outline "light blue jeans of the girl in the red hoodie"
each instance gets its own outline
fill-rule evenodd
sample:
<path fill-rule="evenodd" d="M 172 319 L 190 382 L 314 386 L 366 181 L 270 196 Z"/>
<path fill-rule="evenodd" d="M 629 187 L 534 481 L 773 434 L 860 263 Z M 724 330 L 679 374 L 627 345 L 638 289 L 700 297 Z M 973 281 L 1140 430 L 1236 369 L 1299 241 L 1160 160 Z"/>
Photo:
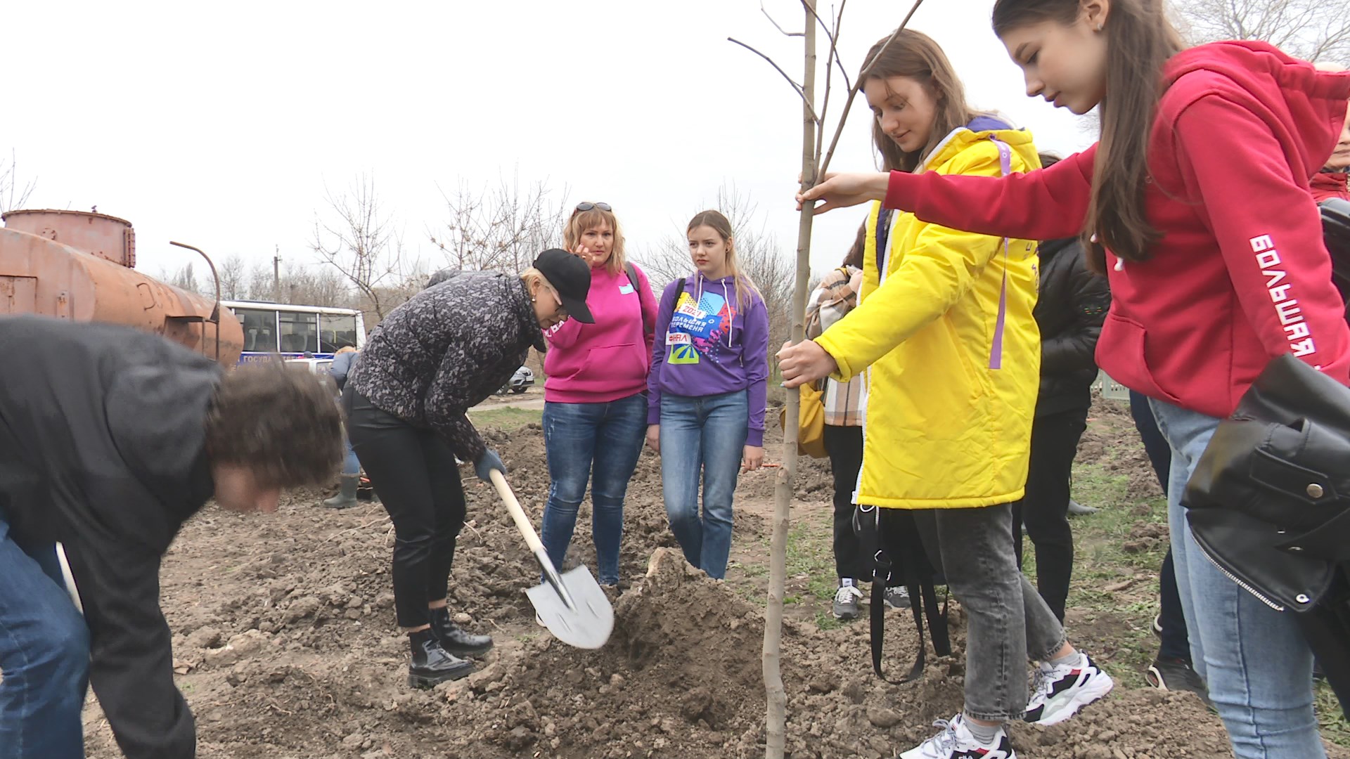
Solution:
<path fill-rule="evenodd" d="M 1168 525 L 1191 659 L 1210 687 L 1238 759 L 1326 756 L 1312 714 L 1312 652 L 1293 612 L 1277 612 L 1238 587 L 1200 552 L 1181 494 L 1219 420 L 1150 400 L 1172 446 Z"/>

